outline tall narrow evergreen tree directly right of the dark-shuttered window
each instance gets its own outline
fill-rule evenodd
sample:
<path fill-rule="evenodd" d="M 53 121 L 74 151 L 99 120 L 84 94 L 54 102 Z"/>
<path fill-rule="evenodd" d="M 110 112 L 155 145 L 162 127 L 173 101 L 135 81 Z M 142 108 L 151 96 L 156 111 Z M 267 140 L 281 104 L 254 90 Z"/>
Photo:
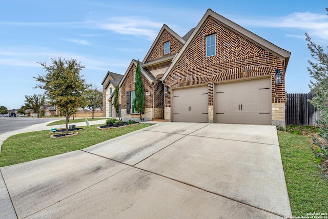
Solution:
<path fill-rule="evenodd" d="M 137 70 L 135 72 L 135 88 L 134 88 L 134 109 L 140 114 L 140 121 L 142 121 L 141 114 L 145 112 L 145 93 L 144 85 L 142 84 L 142 77 L 140 72 L 139 61 L 137 63 Z"/>

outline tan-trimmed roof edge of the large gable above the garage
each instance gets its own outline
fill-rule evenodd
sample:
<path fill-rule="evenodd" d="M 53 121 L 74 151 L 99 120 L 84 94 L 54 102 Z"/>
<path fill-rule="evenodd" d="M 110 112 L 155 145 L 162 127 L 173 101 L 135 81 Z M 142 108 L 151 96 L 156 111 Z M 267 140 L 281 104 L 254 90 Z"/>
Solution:
<path fill-rule="evenodd" d="M 191 42 L 193 41 L 193 39 L 195 38 L 196 34 L 198 33 L 198 31 L 201 29 L 201 27 L 204 25 L 204 23 L 207 21 L 207 19 L 209 17 L 213 17 L 214 19 L 216 19 L 217 21 L 219 21 L 220 23 L 228 26 L 229 28 L 231 28 L 232 30 L 236 31 L 237 33 L 241 34 L 242 36 L 250 39 L 250 41 L 252 41 L 253 43 L 260 45 L 261 47 L 263 47 L 264 49 L 270 51 L 271 53 L 275 54 L 276 56 L 278 56 L 280 59 L 284 59 L 286 65 L 288 64 L 289 61 L 289 57 L 291 55 L 291 52 L 284 50 L 272 43 L 270 43 L 269 41 L 263 39 L 262 37 L 256 35 L 255 33 L 237 25 L 236 23 L 230 21 L 229 19 L 227 19 L 226 17 L 223 17 L 221 15 L 219 15 L 218 13 L 212 11 L 211 9 L 208 9 L 206 11 L 206 13 L 204 14 L 204 16 L 201 18 L 200 22 L 198 23 L 198 25 L 195 27 L 195 29 L 192 31 L 189 31 L 185 36 L 187 37 L 188 34 L 190 34 L 190 36 L 188 37 L 187 42 L 185 43 L 185 45 L 183 45 L 182 49 L 180 50 L 180 52 L 177 54 L 177 56 L 175 56 L 173 58 L 172 64 L 170 65 L 170 67 L 167 69 L 167 71 L 165 72 L 165 74 L 162 76 L 161 81 L 165 81 L 166 78 L 168 77 L 168 75 L 170 74 L 171 70 L 175 67 L 175 65 L 178 63 L 178 61 L 180 60 L 180 58 L 182 57 L 183 53 L 185 53 L 186 49 L 189 47 L 189 45 L 191 44 Z M 190 33 L 191 32 L 191 33 Z M 183 37 L 185 37 L 183 36 Z"/>

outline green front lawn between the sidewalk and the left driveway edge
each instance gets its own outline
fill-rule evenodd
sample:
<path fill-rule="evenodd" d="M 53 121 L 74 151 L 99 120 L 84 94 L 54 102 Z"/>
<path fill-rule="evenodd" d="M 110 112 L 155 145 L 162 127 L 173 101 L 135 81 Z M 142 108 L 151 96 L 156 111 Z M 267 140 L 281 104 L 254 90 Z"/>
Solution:
<path fill-rule="evenodd" d="M 99 130 L 97 126 L 85 127 L 84 130 L 78 132 L 78 135 L 65 138 L 50 138 L 49 131 L 13 135 L 2 145 L 0 167 L 80 150 L 150 125 L 139 124 L 108 130 Z"/>

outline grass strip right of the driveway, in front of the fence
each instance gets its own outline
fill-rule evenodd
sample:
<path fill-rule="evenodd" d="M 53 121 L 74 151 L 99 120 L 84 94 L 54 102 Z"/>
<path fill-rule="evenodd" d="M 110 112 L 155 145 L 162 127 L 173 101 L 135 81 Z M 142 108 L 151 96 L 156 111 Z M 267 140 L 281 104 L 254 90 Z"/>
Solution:
<path fill-rule="evenodd" d="M 278 131 L 281 158 L 290 204 L 294 216 L 328 212 L 328 180 L 323 177 L 312 151 L 311 132 L 307 127 L 287 127 Z M 307 131 L 304 131 L 307 130 Z M 304 135 L 300 135 L 303 133 Z"/>

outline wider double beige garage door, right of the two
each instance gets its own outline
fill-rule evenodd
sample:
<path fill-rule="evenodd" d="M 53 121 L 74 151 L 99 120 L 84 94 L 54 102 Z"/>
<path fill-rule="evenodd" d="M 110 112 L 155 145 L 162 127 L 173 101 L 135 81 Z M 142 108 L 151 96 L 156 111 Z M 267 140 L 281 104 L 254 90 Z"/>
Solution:
<path fill-rule="evenodd" d="M 216 123 L 271 124 L 271 78 L 215 85 Z"/>

